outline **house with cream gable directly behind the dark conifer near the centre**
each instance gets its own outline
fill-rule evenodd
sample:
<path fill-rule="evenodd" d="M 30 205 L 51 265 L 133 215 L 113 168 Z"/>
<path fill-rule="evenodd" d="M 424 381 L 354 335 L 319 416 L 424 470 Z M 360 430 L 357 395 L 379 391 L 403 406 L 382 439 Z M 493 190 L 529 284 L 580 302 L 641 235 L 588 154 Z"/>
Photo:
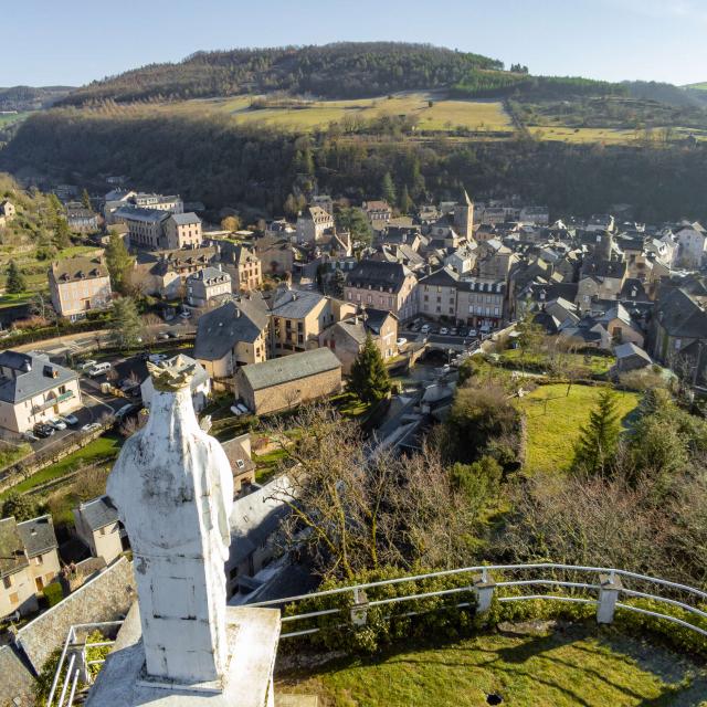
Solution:
<path fill-rule="evenodd" d="M 348 376 L 369 335 L 383 360 L 398 356 L 398 317 L 386 309 L 365 309 L 333 324 L 319 335 L 319 346 L 336 354 L 344 374 Z"/>

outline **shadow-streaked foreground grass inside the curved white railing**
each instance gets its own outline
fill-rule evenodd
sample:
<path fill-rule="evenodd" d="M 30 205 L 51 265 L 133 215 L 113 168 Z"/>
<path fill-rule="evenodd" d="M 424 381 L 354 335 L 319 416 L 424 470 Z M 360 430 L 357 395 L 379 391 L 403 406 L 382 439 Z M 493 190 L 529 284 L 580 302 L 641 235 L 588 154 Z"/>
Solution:
<path fill-rule="evenodd" d="M 441 648 L 408 648 L 286 676 L 282 693 L 323 707 L 483 707 L 496 693 L 515 707 L 707 705 L 703 668 L 668 651 L 594 627 L 483 635 Z"/>

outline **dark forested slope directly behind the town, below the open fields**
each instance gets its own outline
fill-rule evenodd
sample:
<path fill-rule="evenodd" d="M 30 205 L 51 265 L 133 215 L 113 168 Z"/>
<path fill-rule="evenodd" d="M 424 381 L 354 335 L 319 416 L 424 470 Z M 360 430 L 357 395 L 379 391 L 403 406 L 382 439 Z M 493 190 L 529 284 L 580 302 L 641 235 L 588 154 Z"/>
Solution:
<path fill-rule="evenodd" d="M 27 120 L 0 152 L 0 168 L 127 173 L 145 189 L 178 191 L 210 208 L 249 207 L 282 214 L 297 182 L 352 199 L 380 197 L 390 172 L 400 193 L 421 202 L 458 184 L 476 196 L 547 203 L 553 212 L 590 214 L 612 203 L 634 204 L 636 217 L 705 218 L 707 148 L 671 145 L 567 145 L 520 136 L 508 141 L 460 145 L 441 137 L 414 143 L 367 135 L 296 136 L 236 126 L 225 117 L 116 119 L 75 108 Z"/>

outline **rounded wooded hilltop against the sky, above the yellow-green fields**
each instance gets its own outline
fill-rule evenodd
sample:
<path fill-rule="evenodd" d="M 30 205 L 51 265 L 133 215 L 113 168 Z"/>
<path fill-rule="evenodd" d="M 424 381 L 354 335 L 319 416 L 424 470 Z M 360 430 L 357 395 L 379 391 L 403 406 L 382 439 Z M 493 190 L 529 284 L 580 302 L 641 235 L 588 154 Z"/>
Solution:
<path fill-rule="evenodd" d="M 344 42 L 198 52 L 179 63 L 150 64 L 94 81 L 63 103 L 203 98 L 286 91 L 324 97 L 447 87 L 481 70 L 500 70 L 494 59 L 428 44 Z M 498 73 L 498 72 L 497 72 Z"/>

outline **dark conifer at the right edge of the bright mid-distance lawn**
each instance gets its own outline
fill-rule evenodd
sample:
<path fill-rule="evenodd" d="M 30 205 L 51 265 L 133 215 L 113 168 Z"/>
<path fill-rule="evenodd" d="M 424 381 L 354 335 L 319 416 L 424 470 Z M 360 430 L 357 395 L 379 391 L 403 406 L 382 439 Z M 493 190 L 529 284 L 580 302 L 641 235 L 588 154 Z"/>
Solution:
<path fill-rule="evenodd" d="M 574 468 L 605 475 L 616 453 L 620 435 L 616 398 L 611 390 L 604 389 L 597 407 L 589 413 L 589 422 L 580 429 L 580 436 L 574 445 Z"/>

